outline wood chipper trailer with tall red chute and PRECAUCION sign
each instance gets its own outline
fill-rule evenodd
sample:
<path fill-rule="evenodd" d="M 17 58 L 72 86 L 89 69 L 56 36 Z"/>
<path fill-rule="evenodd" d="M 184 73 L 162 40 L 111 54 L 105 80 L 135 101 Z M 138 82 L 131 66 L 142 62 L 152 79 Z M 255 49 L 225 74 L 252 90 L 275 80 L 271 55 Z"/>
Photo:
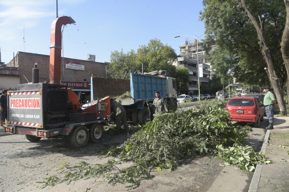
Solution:
<path fill-rule="evenodd" d="M 61 27 L 72 24 L 71 17 L 56 18 L 51 26 L 49 83 L 38 82 L 38 69 L 32 69 L 32 83 L 18 85 L 18 91 L 9 91 L 8 123 L 6 132 L 24 134 L 31 142 L 41 138 L 62 137 L 72 147 L 79 148 L 88 140 L 97 142 L 102 137 L 103 125 L 110 117 L 110 97 L 97 100 L 81 110 L 78 96 L 60 85 Z"/>

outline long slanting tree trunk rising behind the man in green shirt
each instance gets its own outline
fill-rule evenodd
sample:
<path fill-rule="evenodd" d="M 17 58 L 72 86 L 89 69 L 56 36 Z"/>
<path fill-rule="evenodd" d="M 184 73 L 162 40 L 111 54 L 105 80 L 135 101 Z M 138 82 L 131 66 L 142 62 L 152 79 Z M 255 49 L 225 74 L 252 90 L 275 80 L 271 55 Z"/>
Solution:
<path fill-rule="evenodd" d="M 284 1 L 287 1 L 287 0 L 284 0 Z M 259 25 L 257 20 L 252 15 L 252 13 L 248 10 L 246 3 L 245 3 L 245 0 L 237 0 L 237 2 L 239 3 L 240 7 L 242 7 L 244 9 L 244 14 L 248 15 L 249 19 L 251 20 L 251 22 L 253 23 L 254 27 L 257 30 L 257 35 L 258 35 L 258 39 L 260 41 L 259 44 L 260 44 L 260 47 L 262 50 L 262 54 L 263 54 L 264 60 L 267 63 L 267 66 L 268 66 L 268 73 L 269 73 L 268 77 L 270 79 L 270 82 L 271 82 L 272 87 L 274 89 L 275 95 L 277 97 L 277 101 L 278 101 L 279 108 L 280 108 L 280 113 L 281 113 L 281 115 L 287 116 L 286 104 L 285 104 L 283 93 L 281 90 L 280 80 L 276 75 L 276 71 L 274 69 L 271 53 L 270 53 L 270 50 L 268 48 L 267 42 L 266 42 L 264 34 L 263 34 L 263 23 L 261 21 L 261 18 L 259 17 L 259 20 L 260 20 L 260 25 Z"/>

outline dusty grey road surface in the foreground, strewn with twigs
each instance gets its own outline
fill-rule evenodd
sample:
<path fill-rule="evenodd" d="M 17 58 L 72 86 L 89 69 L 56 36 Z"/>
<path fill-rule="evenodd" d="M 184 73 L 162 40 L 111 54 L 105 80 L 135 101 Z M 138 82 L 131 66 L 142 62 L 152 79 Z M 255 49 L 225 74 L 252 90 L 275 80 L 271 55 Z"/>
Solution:
<path fill-rule="evenodd" d="M 83 149 L 74 150 L 62 139 L 41 139 L 31 143 L 24 135 L 0 137 L 0 191 L 126 191 L 125 185 L 108 184 L 104 178 L 77 180 L 70 184 L 60 183 L 41 189 L 44 178 L 59 176 L 63 161 L 75 165 L 81 161 L 88 164 L 102 164 L 105 158 L 100 147 L 105 144 L 123 142 L 126 134 L 105 134 L 98 143 L 88 143 Z M 222 172 L 222 161 L 209 156 L 196 157 L 182 162 L 172 172 L 152 170 L 151 180 L 142 180 L 139 188 L 132 191 L 198 191 L 209 189 L 215 178 Z"/>

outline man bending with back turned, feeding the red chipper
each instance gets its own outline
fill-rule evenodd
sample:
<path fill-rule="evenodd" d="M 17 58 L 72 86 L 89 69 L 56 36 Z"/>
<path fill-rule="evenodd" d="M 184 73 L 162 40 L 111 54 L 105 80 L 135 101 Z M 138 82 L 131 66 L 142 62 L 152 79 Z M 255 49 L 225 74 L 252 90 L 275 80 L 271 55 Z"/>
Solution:
<path fill-rule="evenodd" d="M 116 102 L 114 99 L 111 99 L 111 111 L 114 112 L 116 116 L 116 132 L 120 132 L 121 123 L 124 126 L 124 130 L 128 130 L 128 122 L 126 121 L 126 112 L 122 104 Z"/>

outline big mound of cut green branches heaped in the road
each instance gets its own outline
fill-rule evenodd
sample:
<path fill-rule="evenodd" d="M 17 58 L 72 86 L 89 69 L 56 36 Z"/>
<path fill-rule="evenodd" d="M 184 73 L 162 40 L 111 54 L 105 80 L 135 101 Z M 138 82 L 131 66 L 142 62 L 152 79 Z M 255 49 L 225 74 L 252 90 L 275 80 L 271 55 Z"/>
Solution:
<path fill-rule="evenodd" d="M 212 152 L 216 145 L 240 144 L 251 128 L 232 124 L 223 107 L 222 101 L 204 102 L 185 112 L 156 116 L 108 155 L 171 169 L 185 157 Z"/>

